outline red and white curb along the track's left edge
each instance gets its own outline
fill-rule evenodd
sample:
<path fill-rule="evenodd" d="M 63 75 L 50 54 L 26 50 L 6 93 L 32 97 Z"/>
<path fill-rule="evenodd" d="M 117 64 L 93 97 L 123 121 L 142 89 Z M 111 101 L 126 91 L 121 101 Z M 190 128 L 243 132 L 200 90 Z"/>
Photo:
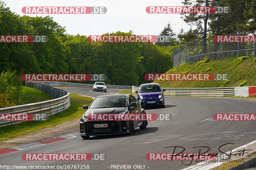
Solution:
<path fill-rule="evenodd" d="M 58 136 L 58 137 L 55 137 L 55 138 L 45 139 L 45 140 L 32 142 L 32 143 L 28 143 L 28 144 L 12 146 L 12 147 L 9 147 L 9 148 L 0 149 L 0 155 L 5 154 L 5 153 L 20 151 L 20 150 L 23 150 L 23 149 L 32 148 L 32 147 L 36 147 L 36 146 L 40 146 L 40 145 L 46 145 L 46 144 L 50 144 L 50 143 L 53 143 L 53 142 L 58 142 L 58 141 L 61 141 L 61 140 L 75 138 L 77 136 L 79 136 L 79 132 L 73 132 L 73 133 L 68 133 L 66 135 L 61 135 L 61 136 Z"/>

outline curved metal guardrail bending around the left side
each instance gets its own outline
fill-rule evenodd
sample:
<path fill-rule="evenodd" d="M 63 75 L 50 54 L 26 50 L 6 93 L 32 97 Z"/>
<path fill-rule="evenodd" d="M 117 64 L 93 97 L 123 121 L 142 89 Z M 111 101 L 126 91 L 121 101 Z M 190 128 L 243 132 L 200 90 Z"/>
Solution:
<path fill-rule="evenodd" d="M 47 100 L 44 102 L 38 102 L 38 103 L 30 103 L 30 104 L 24 104 L 19 106 L 12 106 L 12 107 L 6 107 L 0 109 L 0 114 L 32 114 L 33 118 L 41 117 L 41 116 L 49 116 L 54 115 L 58 112 L 61 112 L 62 110 L 68 109 L 70 106 L 70 99 L 69 99 L 69 93 L 60 90 L 55 89 L 46 85 L 37 84 L 34 82 L 25 82 L 26 86 L 36 88 L 40 91 L 43 91 L 55 99 Z M 9 124 L 17 124 L 21 123 L 23 121 L 0 121 L 0 126 L 6 126 Z"/>

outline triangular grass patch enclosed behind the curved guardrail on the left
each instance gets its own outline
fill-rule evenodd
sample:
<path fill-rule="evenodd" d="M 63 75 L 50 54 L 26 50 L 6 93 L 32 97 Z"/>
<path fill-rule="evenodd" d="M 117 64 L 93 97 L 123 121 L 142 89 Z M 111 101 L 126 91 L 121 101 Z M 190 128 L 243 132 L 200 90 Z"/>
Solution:
<path fill-rule="evenodd" d="M 51 97 L 50 95 L 47 95 L 42 91 L 24 86 L 20 91 L 18 104 L 22 105 L 22 104 L 43 102 L 51 99 L 53 99 L 53 97 Z"/>

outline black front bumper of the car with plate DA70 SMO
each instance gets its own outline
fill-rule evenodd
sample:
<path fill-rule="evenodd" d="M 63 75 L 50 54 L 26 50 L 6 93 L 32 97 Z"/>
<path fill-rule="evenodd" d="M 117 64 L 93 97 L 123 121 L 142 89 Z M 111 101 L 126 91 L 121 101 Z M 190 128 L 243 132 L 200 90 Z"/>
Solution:
<path fill-rule="evenodd" d="M 94 128 L 94 124 L 108 124 L 108 127 Z M 126 121 L 80 121 L 80 135 L 98 136 L 129 132 L 129 122 Z"/>

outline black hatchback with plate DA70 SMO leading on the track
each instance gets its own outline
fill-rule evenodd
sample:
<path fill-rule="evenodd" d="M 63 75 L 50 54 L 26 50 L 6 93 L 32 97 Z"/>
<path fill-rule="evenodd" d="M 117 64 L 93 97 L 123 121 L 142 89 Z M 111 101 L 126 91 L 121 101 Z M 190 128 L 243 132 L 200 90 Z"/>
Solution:
<path fill-rule="evenodd" d="M 127 119 L 135 114 L 146 116 L 140 103 L 130 94 L 98 96 L 83 109 L 87 109 L 80 119 L 80 135 L 84 139 L 96 135 L 132 134 L 134 128 L 144 129 L 148 125 L 146 119 Z"/>

